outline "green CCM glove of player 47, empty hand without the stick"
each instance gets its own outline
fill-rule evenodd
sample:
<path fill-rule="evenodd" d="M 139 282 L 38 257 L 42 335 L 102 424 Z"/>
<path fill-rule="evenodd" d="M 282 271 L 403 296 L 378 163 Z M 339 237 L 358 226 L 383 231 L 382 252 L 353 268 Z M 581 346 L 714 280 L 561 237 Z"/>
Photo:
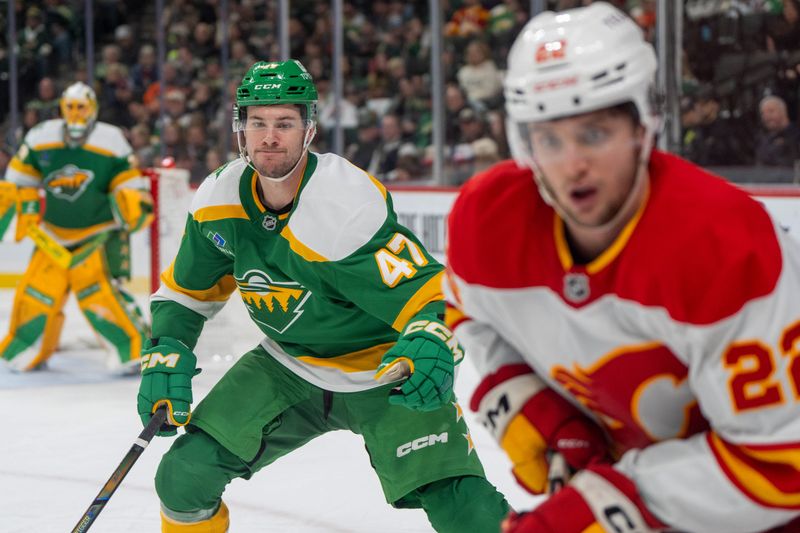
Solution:
<path fill-rule="evenodd" d="M 409 321 L 397 343 L 383 355 L 375 379 L 410 377 L 389 395 L 389 403 L 417 411 L 433 411 L 453 396 L 455 365 L 464 352 L 450 328 L 434 314 Z M 399 368 L 407 366 L 407 371 Z"/>

